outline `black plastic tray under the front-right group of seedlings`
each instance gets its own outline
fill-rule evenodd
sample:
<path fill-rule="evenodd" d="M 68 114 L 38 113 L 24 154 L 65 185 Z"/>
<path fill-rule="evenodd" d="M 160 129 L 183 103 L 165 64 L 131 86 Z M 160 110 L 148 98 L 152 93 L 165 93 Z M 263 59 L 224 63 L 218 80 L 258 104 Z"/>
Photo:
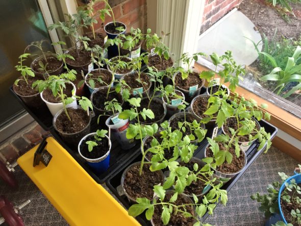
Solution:
<path fill-rule="evenodd" d="M 273 125 L 271 125 L 270 123 L 261 120 L 260 122 L 261 127 L 264 127 L 267 133 L 271 134 L 271 139 L 273 139 L 277 132 L 278 129 L 275 128 Z M 211 132 L 211 131 L 210 131 Z M 218 134 L 221 133 L 221 130 L 218 131 Z M 212 132 L 211 132 L 212 134 Z M 197 158 L 204 158 L 204 154 L 205 154 L 205 148 L 208 145 L 208 141 L 206 139 L 204 139 L 202 142 L 200 142 L 198 144 L 198 148 L 195 150 L 194 152 L 194 156 Z M 265 146 L 260 149 L 257 150 L 259 146 L 259 142 L 255 141 L 246 151 L 246 155 L 247 155 L 247 163 L 246 163 L 246 167 L 243 169 L 243 171 L 241 171 L 239 174 L 237 174 L 234 178 L 232 178 L 228 183 L 223 185 L 223 189 L 227 190 L 228 192 L 230 191 L 230 189 L 236 184 L 236 182 L 240 179 L 240 177 L 243 175 L 243 173 L 248 169 L 248 167 L 258 158 L 258 156 L 264 151 Z M 111 175 L 111 177 L 106 181 L 106 184 L 108 186 L 108 188 L 113 192 L 113 194 L 117 197 L 117 199 L 119 200 L 119 202 L 121 202 L 124 207 L 126 207 L 127 209 L 129 209 L 129 207 L 133 204 L 129 202 L 129 199 L 123 195 L 120 196 L 117 192 L 117 186 L 120 185 L 121 182 L 121 175 L 124 171 L 124 169 L 126 169 L 130 164 L 134 163 L 134 162 L 138 162 L 141 161 L 142 155 L 141 153 L 137 153 L 137 155 L 133 156 L 133 158 L 128 162 L 128 164 L 124 164 L 122 167 L 120 167 L 118 170 L 115 171 L 115 173 L 113 173 Z M 203 216 L 203 221 L 209 216 L 209 213 L 207 212 L 204 216 Z M 141 215 L 139 215 L 138 217 L 136 217 L 136 219 L 139 221 L 139 223 L 141 223 L 142 225 L 150 225 L 150 222 L 146 220 L 144 213 L 142 213 Z"/>

